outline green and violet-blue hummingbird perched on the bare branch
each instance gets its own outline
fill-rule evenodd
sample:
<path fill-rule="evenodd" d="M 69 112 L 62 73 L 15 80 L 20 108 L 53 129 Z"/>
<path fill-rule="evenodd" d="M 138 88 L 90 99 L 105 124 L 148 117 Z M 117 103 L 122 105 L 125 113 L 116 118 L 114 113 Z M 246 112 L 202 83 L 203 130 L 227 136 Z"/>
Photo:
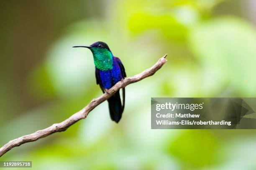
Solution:
<path fill-rule="evenodd" d="M 95 65 L 96 84 L 100 85 L 103 93 L 113 87 L 117 82 L 126 77 L 123 63 L 115 57 L 105 42 L 98 41 L 90 46 L 77 45 L 73 47 L 85 47 L 91 50 Z M 125 106 L 125 88 L 123 91 L 123 104 L 121 103 L 119 90 L 108 99 L 110 117 L 118 123 L 122 117 Z"/>

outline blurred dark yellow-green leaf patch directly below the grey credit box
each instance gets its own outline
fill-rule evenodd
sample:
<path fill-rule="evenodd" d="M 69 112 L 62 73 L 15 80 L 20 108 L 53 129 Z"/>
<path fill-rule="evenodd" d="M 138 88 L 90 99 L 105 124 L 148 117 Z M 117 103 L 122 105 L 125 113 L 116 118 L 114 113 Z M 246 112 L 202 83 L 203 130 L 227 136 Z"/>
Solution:
<path fill-rule="evenodd" d="M 184 167 L 204 167 L 213 163 L 217 141 L 205 130 L 187 130 L 174 140 L 168 152 L 182 161 Z"/>

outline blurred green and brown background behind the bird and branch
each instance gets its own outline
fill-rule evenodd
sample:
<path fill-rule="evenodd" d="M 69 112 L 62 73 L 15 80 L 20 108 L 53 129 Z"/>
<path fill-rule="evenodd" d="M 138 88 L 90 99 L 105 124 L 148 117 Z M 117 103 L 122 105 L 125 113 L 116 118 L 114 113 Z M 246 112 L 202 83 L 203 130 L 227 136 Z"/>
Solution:
<path fill-rule="evenodd" d="M 255 0 L 0 1 L 1 146 L 101 95 L 90 50 L 73 45 L 107 42 L 128 77 L 168 53 L 159 72 L 126 88 L 119 124 L 104 102 L 0 160 L 33 161 L 36 170 L 255 170 L 256 130 L 150 124 L 150 97 L 256 96 L 255 9 Z"/>

